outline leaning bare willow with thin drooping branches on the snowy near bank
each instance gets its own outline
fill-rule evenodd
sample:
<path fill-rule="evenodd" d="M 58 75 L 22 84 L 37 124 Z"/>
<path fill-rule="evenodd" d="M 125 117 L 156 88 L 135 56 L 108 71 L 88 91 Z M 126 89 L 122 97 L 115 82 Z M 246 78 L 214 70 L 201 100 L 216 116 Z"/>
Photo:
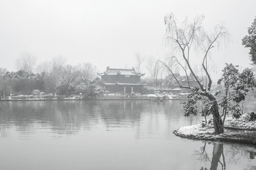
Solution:
<path fill-rule="evenodd" d="M 203 15 L 195 17 L 192 23 L 188 22 L 187 18 L 185 18 L 185 21 L 178 25 L 173 14 L 165 16 L 165 40 L 178 53 L 177 57 L 173 58 L 176 59 L 178 65 L 182 68 L 181 70 L 183 70 L 186 77 L 186 84 L 182 84 L 177 79 L 174 70 L 169 67 L 168 61 L 159 60 L 159 62 L 174 76 L 180 87 L 191 89 L 192 91 L 188 96 L 188 102 L 185 102 L 185 116 L 190 114 L 197 115 L 196 102 L 198 100 L 205 100 L 207 101 L 208 111 L 213 115 L 215 133 L 221 134 L 224 132 L 223 124 L 217 100 L 211 92 L 212 79 L 208 63 L 212 48 L 214 46 L 219 47 L 221 42 L 226 42 L 230 35 L 224 25 L 216 25 L 212 33 L 204 31 L 202 27 L 203 18 Z M 202 64 L 203 72 L 207 79 L 205 80 L 207 82 L 206 85 L 203 85 L 203 82 L 195 75 L 194 68 L 191 67 L 195 60 Z M 190 74 L 197 82 L 197 87 L 190 85 Z"/>

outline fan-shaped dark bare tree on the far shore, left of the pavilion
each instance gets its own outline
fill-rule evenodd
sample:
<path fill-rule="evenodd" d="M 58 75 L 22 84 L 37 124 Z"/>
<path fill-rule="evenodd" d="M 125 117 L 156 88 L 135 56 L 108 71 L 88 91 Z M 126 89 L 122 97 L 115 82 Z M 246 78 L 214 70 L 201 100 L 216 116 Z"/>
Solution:
<path fill-rule="evenodd" d="M 79 76 L 79 71 L 76 67 L 71 65 L 66 65 L 61 69 L 61 78 L 62 78 L 62 85 L 66 86 L 66 95 L 68 95 L 68 90 L 77 77 Z"/>

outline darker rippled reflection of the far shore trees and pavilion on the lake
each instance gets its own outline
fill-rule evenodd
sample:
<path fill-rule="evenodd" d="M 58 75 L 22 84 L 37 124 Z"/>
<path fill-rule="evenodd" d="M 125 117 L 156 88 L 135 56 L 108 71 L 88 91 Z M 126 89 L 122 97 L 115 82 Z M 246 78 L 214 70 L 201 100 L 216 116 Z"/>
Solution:
<path fill-rule="evenodd" d="M 178 102 L 179 103 L 179 102 Z M 141 123 L 147 121 L 148 132 L 157 130 L 163 115 L 178 123 L 182 108 L 174 102 L 149 101 L 54 101 L 3 102 L 0 125 L 16 127 L 21 136 L 29 137 L 35 128 L 52 129 L 54 133 L 74 135 L 104 124 L 107 130 L 136 127 L 140 137 Z M 141 119 L 141 116 L 144 119 Z M 182 115 L 183 117 L 183 115 Z M 172 120 L 172 121 L 173 121 Z M 187 119 L 190 120 L 190 119 Z M 193 119 L 190 120 L 192 124 Z M 154 129 L 154 130 L 153 130 Z M 171 130 L 170 130 L 171 131 Z"/>

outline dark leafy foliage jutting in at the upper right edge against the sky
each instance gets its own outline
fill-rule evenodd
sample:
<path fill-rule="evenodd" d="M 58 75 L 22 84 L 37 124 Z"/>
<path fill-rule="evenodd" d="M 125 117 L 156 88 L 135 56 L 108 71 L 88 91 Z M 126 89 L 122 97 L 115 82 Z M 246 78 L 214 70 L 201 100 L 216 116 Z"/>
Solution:
<path fill-rule="evenodd" d="M 248 27 L 248 35 L 242 39 L 242 44 L 250 48 L 250 59 L 256 65 L 256 17 L 250 27 Z"/>

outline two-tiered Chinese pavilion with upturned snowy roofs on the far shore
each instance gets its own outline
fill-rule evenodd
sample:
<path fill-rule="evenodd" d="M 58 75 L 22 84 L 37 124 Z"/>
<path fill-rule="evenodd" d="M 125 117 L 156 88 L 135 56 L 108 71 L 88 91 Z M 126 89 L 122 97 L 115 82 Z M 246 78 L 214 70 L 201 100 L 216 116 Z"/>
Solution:
<path fill-rule="evenodd" d="M 101 76 L 103 86 L 109 92 L 141 93 L 141 76 L 145 74 L 137 73 L 134 68 L 106 68 L 106 71 L 98 74 Z"/>

